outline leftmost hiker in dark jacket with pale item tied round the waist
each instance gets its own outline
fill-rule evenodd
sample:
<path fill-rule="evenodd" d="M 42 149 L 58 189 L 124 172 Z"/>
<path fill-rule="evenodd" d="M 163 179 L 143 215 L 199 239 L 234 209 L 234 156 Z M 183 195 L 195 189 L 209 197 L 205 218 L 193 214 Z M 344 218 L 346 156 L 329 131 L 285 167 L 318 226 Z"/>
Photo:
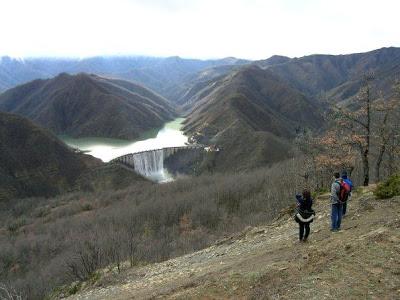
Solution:
<path fill-rule="evenodd" d="M 312 210 L 313 200 L 308 189 L 303 190 L 302 195 L 296 195 L 297 208 L 295 220 L 299 223 L 299 240 L 306 242 L 310 234 L 310 223 L 314 220 Z"/>

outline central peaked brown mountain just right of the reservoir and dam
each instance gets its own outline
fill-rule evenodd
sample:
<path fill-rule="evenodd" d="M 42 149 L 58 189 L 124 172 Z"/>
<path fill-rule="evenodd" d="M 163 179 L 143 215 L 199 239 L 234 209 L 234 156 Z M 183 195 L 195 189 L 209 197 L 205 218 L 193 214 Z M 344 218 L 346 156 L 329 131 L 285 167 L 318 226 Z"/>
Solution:
<path fill-rule="evenodd" d="M 322 124 L 320 111 L 303 94 L 257 66 L 243 67 L 195 97 L 185 130 L 200 142 L 222 148 L 217 169 L 250 168 L 286 158 L 296 130 Z"/>

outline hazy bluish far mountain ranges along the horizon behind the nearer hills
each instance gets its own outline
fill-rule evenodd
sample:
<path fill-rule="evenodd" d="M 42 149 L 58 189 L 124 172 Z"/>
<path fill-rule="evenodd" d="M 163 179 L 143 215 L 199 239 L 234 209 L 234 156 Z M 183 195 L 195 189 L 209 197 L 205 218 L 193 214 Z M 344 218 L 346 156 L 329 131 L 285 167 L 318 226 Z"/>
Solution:
<path fill-rule="evenodd" d="M 275 55 L 266 60 L 247 61 L 236 58 L 218 60 L 182 59 L 179 57 L 93 57 L 86 59 L 27 58 L 0 59 L 0 91 L 38 78 L 50 78 L 59 73 L 94 73 L 138 82 L 169 100 L 179 98 L 193 83 L 216 75 L 224 75 L 234 66 L 257 64 L 270 68 L 307 96 L 319 93 L 351 90 L 360 76 L 373 71 L 382 75 L 381 81 L 398 76 L 400 49 L 381 48 L 348 55 L 310 55 L 288 58 Z M 378 77 L 378 76 L 377 76 Z M 379 76 L 380 77 L 380 76 Z M 347 84 L 346 84 L 347 83 Z M 386 87 L 382 84 L 383 87 Z M 334 93 L 337 97 L 346 93 Z"/>

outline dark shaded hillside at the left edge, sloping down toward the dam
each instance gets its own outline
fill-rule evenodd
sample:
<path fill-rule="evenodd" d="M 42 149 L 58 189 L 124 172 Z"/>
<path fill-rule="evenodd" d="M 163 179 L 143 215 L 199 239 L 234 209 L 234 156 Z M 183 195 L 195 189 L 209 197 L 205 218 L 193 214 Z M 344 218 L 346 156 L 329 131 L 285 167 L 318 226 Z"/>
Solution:
<path fill-rule="evenodd" d="M 0 202 L 69 191 L 125 188 L 145 179 L 75 153 L 31 121 L 0 112 Z"/>

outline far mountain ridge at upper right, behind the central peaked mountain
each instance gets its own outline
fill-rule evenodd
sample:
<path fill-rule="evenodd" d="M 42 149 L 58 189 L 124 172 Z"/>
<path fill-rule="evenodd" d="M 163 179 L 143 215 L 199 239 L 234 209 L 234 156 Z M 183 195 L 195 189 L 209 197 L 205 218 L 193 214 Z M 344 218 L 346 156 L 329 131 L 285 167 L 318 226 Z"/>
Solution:
<path fill-rule="evenodd" d="M 366 73 L 374 73 L 374 84 L 384 93 L 390 93 L 394 80 L 400 78 L 400 48 L 394 47 L 348 55 L 310 55 L 278 64 L 265 62 L 255 64 L 268 68 L 318 101 L 343 101 L 353 97 Z"/>

